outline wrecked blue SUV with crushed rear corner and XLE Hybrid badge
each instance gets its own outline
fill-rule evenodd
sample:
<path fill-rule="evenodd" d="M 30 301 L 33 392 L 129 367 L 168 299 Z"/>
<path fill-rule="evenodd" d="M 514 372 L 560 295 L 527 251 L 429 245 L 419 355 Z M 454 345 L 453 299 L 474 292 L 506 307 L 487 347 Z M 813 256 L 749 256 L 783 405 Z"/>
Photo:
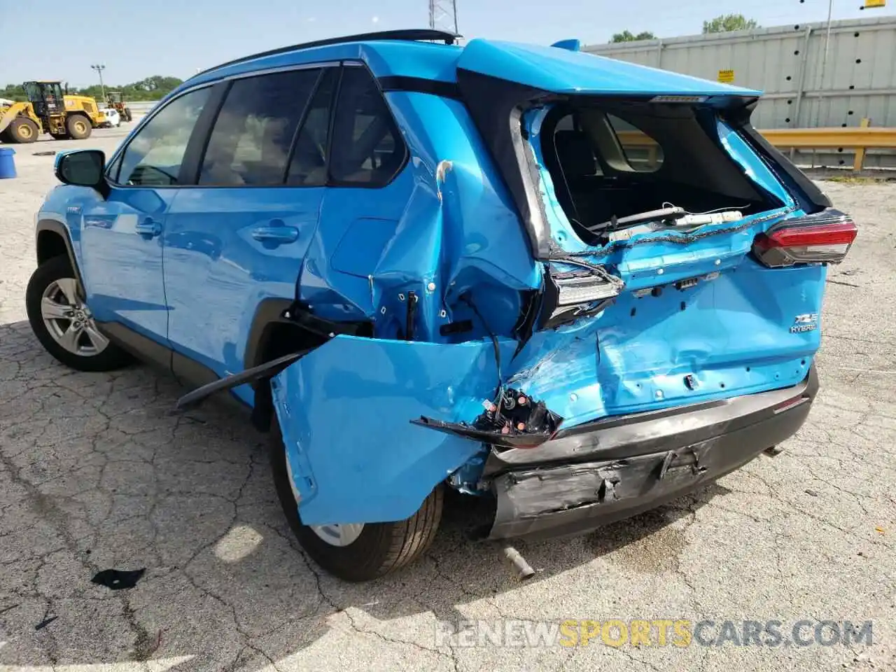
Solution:
<path fill-rule="evenodd" d="M 82 371 L 154 362 L 270 431 L 326 570 L 593 530 L 793 435 L 856 225 L 758 134 L 760 94 L 435 30 L 199 73 L 37 216 L 32 328 Z"/>

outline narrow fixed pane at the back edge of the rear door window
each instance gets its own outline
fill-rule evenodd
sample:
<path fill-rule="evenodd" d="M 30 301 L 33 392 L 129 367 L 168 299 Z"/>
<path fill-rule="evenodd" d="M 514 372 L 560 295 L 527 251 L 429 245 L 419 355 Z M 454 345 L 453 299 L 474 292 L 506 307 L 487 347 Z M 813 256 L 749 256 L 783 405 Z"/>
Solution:
<path fill-rule="evenodd" d="M 339 68 L 326 68 L 314 92 L 305 123 L 298 132 L 289 163 L 287 184 L 321 186 L 327 183 L 327 137 L 330 134 L 330 108 L 339 80 Z"/>

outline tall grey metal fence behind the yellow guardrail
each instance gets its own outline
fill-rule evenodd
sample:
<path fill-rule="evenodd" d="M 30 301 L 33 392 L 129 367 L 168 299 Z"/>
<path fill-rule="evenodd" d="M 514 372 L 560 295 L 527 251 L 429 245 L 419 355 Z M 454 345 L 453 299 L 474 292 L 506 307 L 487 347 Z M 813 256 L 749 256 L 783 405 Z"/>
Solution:
<path fill-rule="evenodd" d="M 896 126 L 896 16 L 584 47 L 585 51 L 764 91 L 757 128 Z M 800 151 L 816 166 L 851 165 L 848 148 Z M 866 166 L 896 168 L 892 150 Z"/>

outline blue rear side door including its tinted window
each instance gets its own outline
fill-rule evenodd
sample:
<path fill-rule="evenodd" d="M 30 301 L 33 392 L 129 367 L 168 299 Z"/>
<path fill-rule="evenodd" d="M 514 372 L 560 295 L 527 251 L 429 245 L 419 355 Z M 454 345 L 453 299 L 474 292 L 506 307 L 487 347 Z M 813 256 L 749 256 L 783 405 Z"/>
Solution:
<path fill-rule="evenodd" d="M 326 126 L 323 146 L 308 141 L 322 130 L 311 112 L 323 106 L 328 119 L 337 74 L 315 65 L 223 84 L 197 184 L 168 212 L 168 338 L 185 356 L 175 358 L 176 373 L 196 380 L 241 371 L 256 307 L 295 297 L 325 182 Z M 295 168 L 288 178 L 290 161 L 302 163 L 302 175 Z M 247 386 L 236 393 L 251 401 Z"/>

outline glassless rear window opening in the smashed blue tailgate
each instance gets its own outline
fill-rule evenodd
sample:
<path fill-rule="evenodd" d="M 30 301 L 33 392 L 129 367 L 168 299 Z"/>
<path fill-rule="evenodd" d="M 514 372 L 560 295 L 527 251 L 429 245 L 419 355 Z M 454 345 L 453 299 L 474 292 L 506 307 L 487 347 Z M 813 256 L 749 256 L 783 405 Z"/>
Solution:
<path fill-rule="evenodd" d="M 618 224 L 656 228 L 682 214 L 639 219 L 642 213 L 679 208 L 730 220 L 780 207 L 724 149 L 717 121 L 713 108 L 646 101 L 550 108 L 539 132 L 542 159 L 576 234 L 597 246 Z"/>

